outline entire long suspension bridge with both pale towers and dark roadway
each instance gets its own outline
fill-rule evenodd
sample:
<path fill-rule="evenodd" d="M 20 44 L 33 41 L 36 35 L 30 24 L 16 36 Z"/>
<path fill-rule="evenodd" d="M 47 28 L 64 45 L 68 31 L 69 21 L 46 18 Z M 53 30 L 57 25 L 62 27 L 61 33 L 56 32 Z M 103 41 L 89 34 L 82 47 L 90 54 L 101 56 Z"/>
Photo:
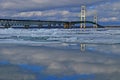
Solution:
<path fill-rule="evenodd" d="M 102 27 L 97 23 L 97 15 L 94 15 L 93 21 L 86 20 L 86 6 L 81 6 L 80 21 L 43 21 L 43 20 L 17 20 L 17 19 L 0 19 L 0 26 L 3 28 L 11 28 L 22 26 L 22 28 L 75 28 L 79 25 L 80 28 L 86 28 L 86 23 L 92 24 L 93 28 Z"/>

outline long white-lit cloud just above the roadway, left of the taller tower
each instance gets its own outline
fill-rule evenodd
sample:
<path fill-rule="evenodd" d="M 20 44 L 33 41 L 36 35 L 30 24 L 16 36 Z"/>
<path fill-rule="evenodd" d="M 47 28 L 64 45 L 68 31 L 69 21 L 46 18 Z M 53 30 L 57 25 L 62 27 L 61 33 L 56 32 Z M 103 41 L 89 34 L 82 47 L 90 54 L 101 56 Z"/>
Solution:
<path fill-rule="evenodd" d="M 79 13 L 70 12 L 69 10 L 46 10 L 46 11 L 30 11 L 30 12 L 19 12 L 12 14 L 13 18 L 22 17 L 29 18 L 34 17 L 34 19 L 43 20 L 75 20 L 74 18 L 79 18 Z"/>

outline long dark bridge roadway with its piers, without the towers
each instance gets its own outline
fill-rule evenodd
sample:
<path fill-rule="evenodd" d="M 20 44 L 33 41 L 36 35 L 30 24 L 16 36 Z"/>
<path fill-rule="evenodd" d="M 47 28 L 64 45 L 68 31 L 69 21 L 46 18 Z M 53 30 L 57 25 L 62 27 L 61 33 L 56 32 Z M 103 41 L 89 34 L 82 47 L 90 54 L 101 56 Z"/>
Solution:
<path fill-rule="evenodd" d="M 43 20 L 16 20 L 16 19 L 0 19 L 0 26 L 4 26 L 4 28 L 10 27 L 18 27 L 23 26 L 23 28 L 30 28 L 31 26 L 37 26 L 38 28 L 42 28 L 46 26 L 46 28 L 51 28 L 56 26 L 56 28 L 73 28 L 76 24 L 80 23 L 90 23 L 96 24 L 92 21 L 43 21 Z M 99 24 L 96 24 L 98 27 L 102 27 Z"/>

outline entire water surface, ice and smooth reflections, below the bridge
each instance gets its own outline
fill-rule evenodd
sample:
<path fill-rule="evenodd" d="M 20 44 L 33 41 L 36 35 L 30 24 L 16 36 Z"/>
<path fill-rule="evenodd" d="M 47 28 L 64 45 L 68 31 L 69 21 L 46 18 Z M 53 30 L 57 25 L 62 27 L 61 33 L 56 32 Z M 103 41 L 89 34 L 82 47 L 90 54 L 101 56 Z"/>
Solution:
<path fill-rule="evenodd" d="M 119 80 L 119 61 L 119 28 L 0 29 L 0 80 Z"/>

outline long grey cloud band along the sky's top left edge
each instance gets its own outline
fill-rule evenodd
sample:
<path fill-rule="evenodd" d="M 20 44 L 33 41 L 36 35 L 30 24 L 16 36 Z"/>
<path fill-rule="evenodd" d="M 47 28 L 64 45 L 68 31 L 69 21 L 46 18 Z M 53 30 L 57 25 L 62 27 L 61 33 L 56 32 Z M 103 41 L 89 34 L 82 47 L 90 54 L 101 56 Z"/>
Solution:
<path fill-rule="evenodd" d="M 64 6 L 80 6 L 81 4 L 92 4 L 104 0 L 6 0 L 1 1 L 1 9 L 8 10 L 34 10 L 36 9 L 49 9 L 55 7 L 64 7 Z"/>

